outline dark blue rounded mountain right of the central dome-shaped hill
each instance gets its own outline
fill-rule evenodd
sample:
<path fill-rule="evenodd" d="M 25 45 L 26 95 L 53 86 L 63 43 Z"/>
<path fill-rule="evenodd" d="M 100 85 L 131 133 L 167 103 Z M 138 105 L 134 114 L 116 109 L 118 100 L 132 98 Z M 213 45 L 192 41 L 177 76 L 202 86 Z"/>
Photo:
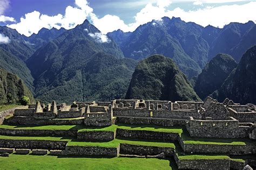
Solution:
<path fill-rule="evenodd" d="M 220 53 L 216 55 L 198 75 L 194 90 L 197 95 L 204 100 L 213 91 L 220 88 L 223 82 L 234 68 L 237 67 L 237 62 L 231 55 Z"/>

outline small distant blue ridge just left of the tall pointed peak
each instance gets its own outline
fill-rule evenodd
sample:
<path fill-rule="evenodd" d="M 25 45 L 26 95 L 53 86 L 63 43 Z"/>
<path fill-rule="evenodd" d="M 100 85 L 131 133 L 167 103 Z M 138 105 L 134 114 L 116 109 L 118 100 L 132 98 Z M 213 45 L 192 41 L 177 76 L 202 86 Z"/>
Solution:
<path fill-rule="evenodd" d="M 59 30 L 54 27 L 51 30 L 43 28 L 37 34 L 33 33 L 30 37 L 24 36 L 24 39 L 29 42 L 29 44 L 31 44 L 33 48 L 38 49 L 39 47 L 42 47 L 51 40 L 57 38 L 65 31 L 66 30 L 64 28 L 61 28 Z"/>

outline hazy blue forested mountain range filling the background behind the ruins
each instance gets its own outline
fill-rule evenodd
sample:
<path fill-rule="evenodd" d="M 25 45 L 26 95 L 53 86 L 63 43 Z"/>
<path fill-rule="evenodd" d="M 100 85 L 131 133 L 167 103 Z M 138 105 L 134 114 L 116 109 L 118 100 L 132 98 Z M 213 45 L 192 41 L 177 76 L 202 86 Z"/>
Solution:
<path fill-rule="evenodd" d="M 20 77 L 38 100 L 50 102 L 55 99 L 58 103 L 106 101 L 125 98 L 125 95 L 126 98 L 173 100 L 173 94 L 183 91 L 171 88 L 170 84 L 177 83 L 182 84 L 181 89 L 190 89 L 188 91 L 193 95 L 181 96 L 177 100 L 200 100 L 198 96 L 203 100 L 206 95 L 221 87 L 236 67 L 235 62 L 239 62 L 242 54 L 256 44 L 256 26 L 253 22 L 231 23 L 219 29 L 167 17 L 153 20 L 139 26 L 134 32 L 127 33 L 117 30 L 104 35 L 85 20 L 82 25 L 72 30 L 42 29 L 30 37 L 0 26 L 0 34 L 9 39 L 8 42 L 0 43 L 0 67 Z M 170 66 L 167 65 L 170 68 L 166 70 L 176 70 L 178 80 L 182 79 L 178 82 L 177 79 L 168 83 L 159 82 L 159 87 L 169 89 L 172 94 L 167 97 L 143 95 L 145 91 L 152 91 L 155 87 L 146 86 L 147 83 L 142 81 L 137 81 L 137 84 L 141 86 L 144 83 L 144 93 L 136 94 L 134 90 L 132 93 L 132 89 L 137 88 L 136 83 L 133 83 L 135 79 L 170 78 L 167 74 L 157 73 L 165 71 L 161 67 L 154 68 L 154 62 L 150 63 L 150 67 L 144 68 L 152 68 L 149 71 L 154 74 L 142 75 L 145 77 L 137 75 L 139 66 L 148 63 L 146 58 L 154 54 L 171 58 L 174 62 L 159 56 L 161 60 L 166 61 L 163 65 L 172 62 Z M 137 71 L 134 72 L 140 60 L 143 61 L 139 62 Z M 209 61 L 211 62 L 208 63 Z M 223 63 L 223 66 L 218 63 Z M 211 65 L 215 66 L 210 67 Z M 221 76 L 216 76 L 216 73 Z M 198 96 L 188 82 L 192 77 L 198 81 L 197 84 L 201 84 L 195 86 Z M 215 79 L 218 81 L 215 82 Z M 215 83 L 212 88 L 203 88 L 212 82 Z M 177 87 L 176 85 L 174 87 Z"/>

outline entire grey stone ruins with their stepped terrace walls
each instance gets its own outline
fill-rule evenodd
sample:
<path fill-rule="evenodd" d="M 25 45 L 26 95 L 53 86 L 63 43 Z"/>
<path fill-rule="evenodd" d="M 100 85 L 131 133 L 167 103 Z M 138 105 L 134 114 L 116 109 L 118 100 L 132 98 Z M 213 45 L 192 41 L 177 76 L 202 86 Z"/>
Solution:
<path fill-rule="evenodd" d="M 5 115 L 3 115 L 5 117 Z M 71 105 L 55 101 L 50 104 L 29 104 L 14 111 L 10 118 L 2 121 L 5 125 L 77 125 L 79 128 L 63 130 L 6 129 L 0 128 L 3 136 L 71 137 L 74 141 L 112 141 L 130 139 L 174 143 L 174 147 L 120 143 L 116 146 L 69 145 L 68 140 L 0 139 L 0 153 L 33 155 L 79 155 L 100 157 L 174 158 L 179 169 L 243 169 L 246 164 L 255 167 L 255 158 L 236 159 L 181 159 L 182 155 L 193 154 L 256 154 L 256 107 L 253 104 L 240 105 L 228 98 L 219 103 L 211 97 L 204 102 L 113 100 L 111 102 L 74 102 Z M 183 133 L 133 130 L 117 128 L 106 131 L 114 124 L 138 126 L 183 127 Z M 93 130 L 96 129 L 96 130 Z M 103 129 L 103 130 L 100 130 Z M 190 139 L 245 139 L 255 142 L 245 144 L 196 144 L 187 143 L 185 132 Z M 250 156 L 249 156 L 250 157 Z"/>

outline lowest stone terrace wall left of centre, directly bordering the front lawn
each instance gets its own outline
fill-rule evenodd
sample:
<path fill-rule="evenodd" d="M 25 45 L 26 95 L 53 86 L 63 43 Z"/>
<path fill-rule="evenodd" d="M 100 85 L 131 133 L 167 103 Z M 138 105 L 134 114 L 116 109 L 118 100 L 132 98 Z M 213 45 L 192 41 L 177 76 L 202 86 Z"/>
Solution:
<path fill-rule="evenodd" d="M 117 155 L 119 154 L 119 146 L 118 147 L 66 146 L 65 154 L 117 157 Z"/>

